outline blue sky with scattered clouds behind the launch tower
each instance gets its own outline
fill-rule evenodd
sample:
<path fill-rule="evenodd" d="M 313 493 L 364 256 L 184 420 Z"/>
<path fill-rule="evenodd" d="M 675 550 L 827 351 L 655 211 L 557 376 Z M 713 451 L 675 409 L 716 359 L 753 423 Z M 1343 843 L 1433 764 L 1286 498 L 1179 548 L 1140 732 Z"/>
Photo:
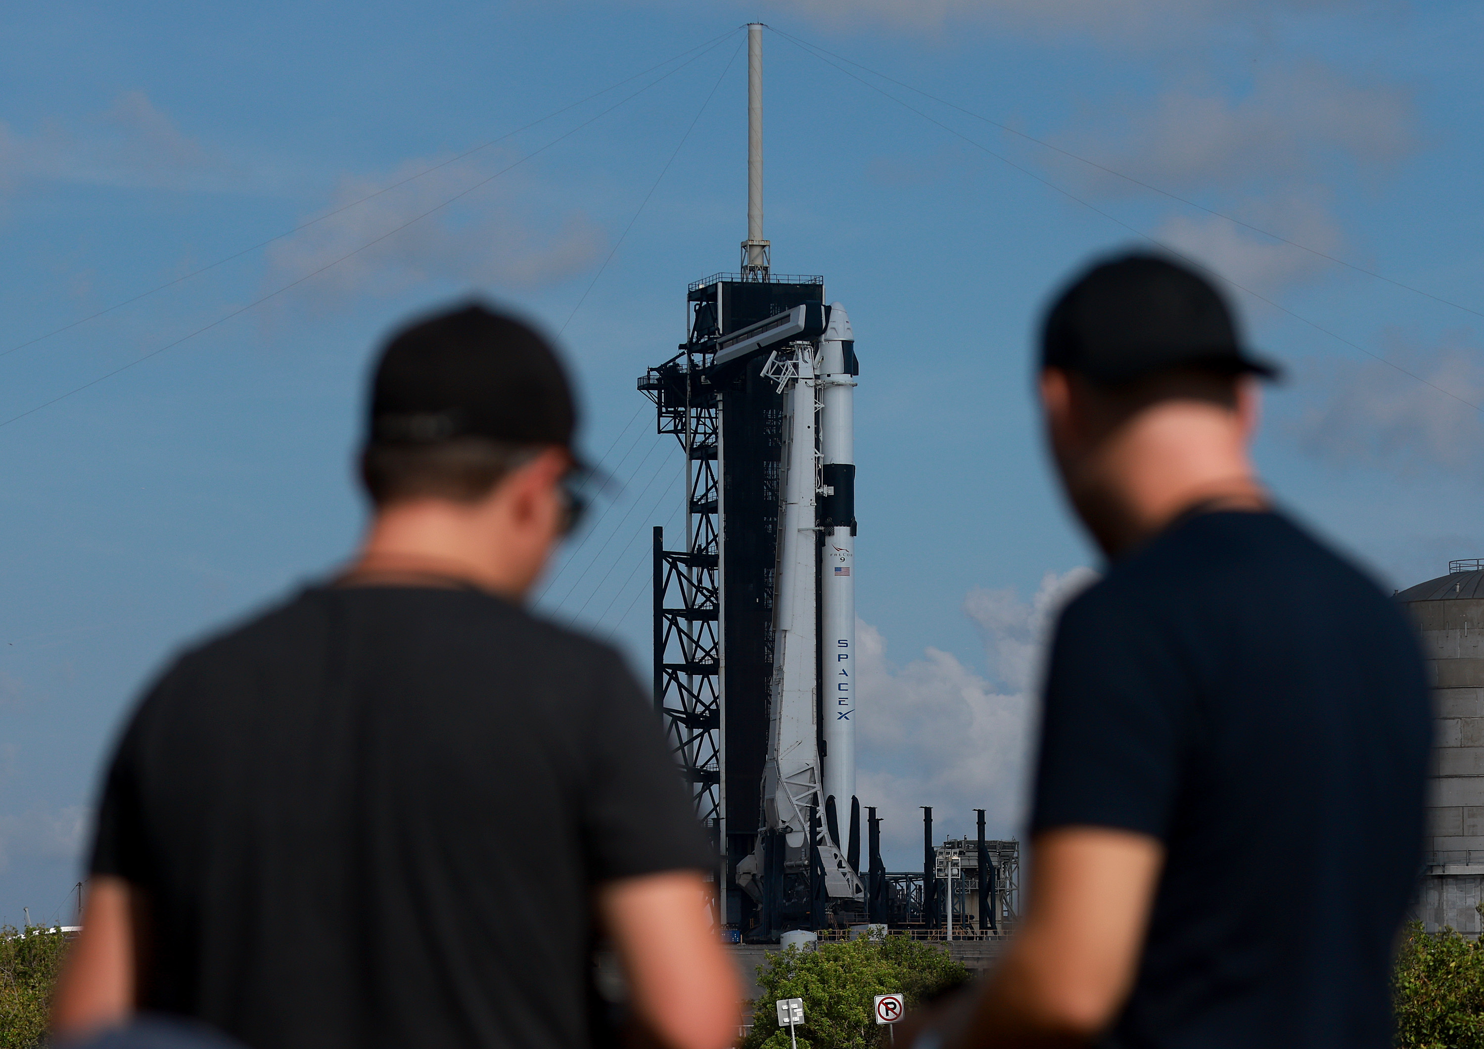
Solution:
<path fill-rule="evenodd" d="M 1039 310 L 1088 257 L 1146 234 L 1254 292 L 1233 301 L 1291 375 L 1260 464 L 1386 586 L 1484 555 L 1480 18 L 7 4 L 0 921 L 68 917 L 98 763 L 162 660 L 346 555 L 368 356 L 417 310 L 478 292 L 561 332 L 585 444 L 625 488 L 542 604 L 643 666 L 647 530 L 678 525 L 681 463 L 634 380 L 681 338 L 687 282 L 736 266 L 749 19 L 944 99 L 767 36 L 775 269 L 825 274 L 862 362 L 862 794 L 889 865 L 914 862 L 917 804 L 939 829 L 974 806 L 1015 826 L 1040 639 L 1095 565 L 1048 479 L 1028 368 Z"/>

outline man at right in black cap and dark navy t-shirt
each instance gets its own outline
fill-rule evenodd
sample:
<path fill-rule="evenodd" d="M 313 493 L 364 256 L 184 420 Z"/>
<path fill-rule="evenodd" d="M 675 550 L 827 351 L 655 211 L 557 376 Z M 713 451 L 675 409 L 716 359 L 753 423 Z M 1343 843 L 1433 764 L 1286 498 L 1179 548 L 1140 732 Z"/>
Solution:
<path fill-rule="evenodd" d="M 1422 659 L 1258 482 L 1252 375 L 1273 374 L 1162 258 L 1095 266 L 1054 304 L 1046 433 L 1109 567 L 1051 651 L 1028 911 L 919 1046 L 1391 1046 Z"/>

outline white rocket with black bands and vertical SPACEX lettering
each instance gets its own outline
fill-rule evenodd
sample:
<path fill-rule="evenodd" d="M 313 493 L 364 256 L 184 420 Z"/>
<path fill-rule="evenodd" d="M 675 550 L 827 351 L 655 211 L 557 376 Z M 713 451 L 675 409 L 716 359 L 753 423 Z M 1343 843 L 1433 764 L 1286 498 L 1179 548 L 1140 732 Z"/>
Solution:
<path fill-rule="evenodd" d="M 819 340 L 819 736 L 824 815 L 831 840 L 861 869 L 855 795 L 855 334 L 840 303 Z"/>

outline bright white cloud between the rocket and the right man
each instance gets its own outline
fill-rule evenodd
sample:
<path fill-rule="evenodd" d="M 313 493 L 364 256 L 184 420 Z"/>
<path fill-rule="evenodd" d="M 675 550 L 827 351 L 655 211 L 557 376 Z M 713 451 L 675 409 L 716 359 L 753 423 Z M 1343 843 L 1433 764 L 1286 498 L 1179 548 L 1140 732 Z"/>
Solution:
<path fill-rule="evenodd" d="M 965 613 L 984 634 L 999 678 L 928 648 L 904 666 L 886 639 L 858 622 L 861 740 L 856 792 L 884 819 L 887 865 L 922 850 L 922 810 L 933 806 L 933 832 L 972 832 L 985 809 L 991 835 L 1017 834 L 1034 727 L 1034 694 L 1046 638 L 1061 605 L 1094 579 L 1088 568 L 1046 573 L 1030 601 L 1014 591 L 971 591 Z"/>

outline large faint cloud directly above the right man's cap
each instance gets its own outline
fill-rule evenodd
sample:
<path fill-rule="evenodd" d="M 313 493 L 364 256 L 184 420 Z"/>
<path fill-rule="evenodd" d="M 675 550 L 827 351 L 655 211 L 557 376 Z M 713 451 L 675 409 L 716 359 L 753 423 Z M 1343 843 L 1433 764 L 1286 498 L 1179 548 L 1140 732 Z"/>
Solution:
<path fill-rule="evenodd" d="M 1315 277 L 1346 254 L 1331 211 L 1336 178 L 1373 175 L 1417 147 L 1411 93 L 1358 83 L 1315 62 L 1261 70 L 1245 92 L 1177 88 L 1155 104 L 1131 101 L 1098 129 L 1061 137 L 1076 154 L 1146 185 L 1217 211 L 1313 251 L 1159 197 L 1073 162 L 1058 168 L 1085 193 L 1138 196 L 1165 209 L 1152 236 L 1258 294 Z M 1343 172 L 1343 174 L 1342 174 Z"/>

